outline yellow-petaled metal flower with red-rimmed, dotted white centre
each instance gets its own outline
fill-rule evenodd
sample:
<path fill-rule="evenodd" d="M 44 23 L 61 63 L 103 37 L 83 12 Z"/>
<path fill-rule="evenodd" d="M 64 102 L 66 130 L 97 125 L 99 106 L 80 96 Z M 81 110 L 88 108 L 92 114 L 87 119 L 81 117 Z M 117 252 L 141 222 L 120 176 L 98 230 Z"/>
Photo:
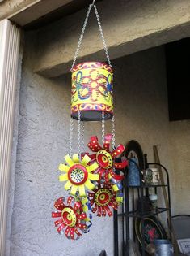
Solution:
<path fill-rule="evenodd" d="M 60 181 L 66 181 L 65 190 L 70 189 L 70 194 L 75 196 L 79 193 L 80 197 L 86 197 L 86 190 L 95 189 L 94 181 L 99 180 L 99 174 L 91 173 L 99 166 L 98 163 L 89 163 L 91 158 L 87 154 L 80 161 L 78 154 L 74 154 L 73 158 L 70 155 L 65 156 L 65 163 L 60 163 L 59 171 L 64 171 L 64 174 L 59 176 Z M 91 182 L 92 181 L 92 182 Z"/>

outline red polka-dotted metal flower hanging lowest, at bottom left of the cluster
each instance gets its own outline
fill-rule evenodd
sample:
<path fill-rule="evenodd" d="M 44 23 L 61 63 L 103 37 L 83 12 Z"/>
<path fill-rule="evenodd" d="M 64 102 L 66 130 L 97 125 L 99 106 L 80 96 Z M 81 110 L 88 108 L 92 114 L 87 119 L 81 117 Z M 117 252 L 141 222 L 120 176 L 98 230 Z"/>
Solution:
<path fill-rule="evenodd" d="M 58 211 L 52 213 L 53 218 L 59 218 L 54 223 L 57 232 L 69 239 L 78 240 L 82 233 L 88 232 L 91 226 L 91 215 L 87 214 L 87 205 L 74 197 L 68 197 L 65 205 L 65 197 L 60 197 L 54 203 Z"/>

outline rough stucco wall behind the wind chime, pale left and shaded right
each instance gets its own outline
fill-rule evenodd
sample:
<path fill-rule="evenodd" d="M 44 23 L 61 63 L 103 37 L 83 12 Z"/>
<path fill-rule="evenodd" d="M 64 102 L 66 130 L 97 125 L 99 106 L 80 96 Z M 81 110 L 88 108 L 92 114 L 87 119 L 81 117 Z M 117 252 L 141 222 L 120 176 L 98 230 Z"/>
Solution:
<path fill-rule="evenodd" d="M 32 41 L 33 35 L 27 37 L 19 98 L 16 172 L 15 180 L 11 180 L 11 185 L 15 183 L 11 255 L 96 256 L 106 249 L 108 256 L 112 256 L 112 218 L 94 216 L 91 232 L 79 241 L 58 236 L 53 227 L 53 202 L 67 194 L 57 180 L 57 165 L 68 153 L 70 75 L 49 80 L 33 73 Z M 136 139 L 150 161 L 152 146 L 161 145 L 161 161 L 170 169 L 163 48 L 116 59 L 112 64 L 116 142 L 125 144 Z M 87 123 L 86 142 L 94 134 L 100 135 L 100 124 Z"/>

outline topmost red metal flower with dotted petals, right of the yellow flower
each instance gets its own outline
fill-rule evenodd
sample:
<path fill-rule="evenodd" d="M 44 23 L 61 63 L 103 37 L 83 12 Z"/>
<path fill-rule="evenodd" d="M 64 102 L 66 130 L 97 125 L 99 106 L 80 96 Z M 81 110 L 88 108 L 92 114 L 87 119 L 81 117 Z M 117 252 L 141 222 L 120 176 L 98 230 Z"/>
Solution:
<path fill-rule="evenodd" d="M 97 172 L 99 177 L 103 177 L 106 183 L 110 181 L 114 183 L 112 188 L 115 191 L 119 191 L 121 184 L 120 181 L 123 180 L 123 175 L 118 175 L 115 173 L 115 169 L 123 169 L 127 166 L 127 160 L 122 160 L 117 163 L 116 157 L 122 154 L 125 150 L 125 146 L 120 144 L 116 149 L 110 151 L 110 142 L 112 141 L 112 134 L 107 134 L 103 141 L 103 147 L 99 145 L 98 138 L 96 136 L 91 137 L 91 141 L 88 143 L 89 149 L 91 149 L 95 154 L 89 155 L 91 160 L 95 160 L 99 168 Z"/>

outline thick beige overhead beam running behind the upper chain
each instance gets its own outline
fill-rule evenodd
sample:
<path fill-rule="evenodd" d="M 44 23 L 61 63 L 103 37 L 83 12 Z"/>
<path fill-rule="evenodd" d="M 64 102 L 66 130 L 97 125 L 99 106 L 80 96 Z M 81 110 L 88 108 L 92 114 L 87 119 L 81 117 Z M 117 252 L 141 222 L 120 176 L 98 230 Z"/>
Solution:
<path fill-rule="evenodd" d="M 190 36 L 188 0 L 110 0 L 97 7 L 111 59 Z M 86 14 L 87 8 L 38 31 L 36 72 L 47 77 L 70 72 Z M 95 15 L 87 25 L 78 62 L 92 59 L 106 60 Z"/>

